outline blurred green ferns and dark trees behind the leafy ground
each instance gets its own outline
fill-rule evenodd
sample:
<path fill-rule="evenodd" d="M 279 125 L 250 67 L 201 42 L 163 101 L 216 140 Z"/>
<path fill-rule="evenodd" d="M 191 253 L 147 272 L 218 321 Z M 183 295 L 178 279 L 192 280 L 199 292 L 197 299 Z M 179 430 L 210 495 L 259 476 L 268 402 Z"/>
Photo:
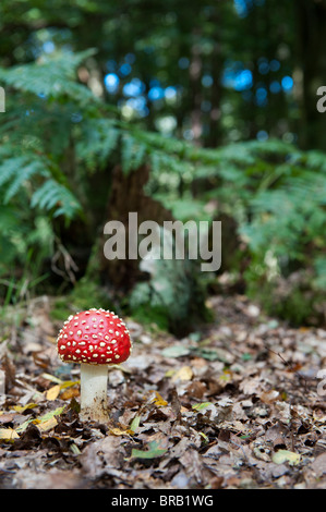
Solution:
<path fill-rule="evenodd" d="M 112 304 L 96 263 L 112 171 L 146 163 L 149 197 L 182 221 L 232 219 L 234 244 L 217 276 L 157 261 L 118 307 L 182 332 L 229 282 L 294 324 L 325 320 L 324 42 L 313 68 L 306 11 L 323 34 L 324 1 L 3 0 L 2 303 Z"/>

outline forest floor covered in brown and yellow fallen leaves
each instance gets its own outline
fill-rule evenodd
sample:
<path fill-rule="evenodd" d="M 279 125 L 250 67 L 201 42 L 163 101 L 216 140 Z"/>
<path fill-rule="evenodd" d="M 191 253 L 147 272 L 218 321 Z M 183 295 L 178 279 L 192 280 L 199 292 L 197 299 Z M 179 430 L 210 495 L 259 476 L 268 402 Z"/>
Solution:
<path fill-rule="evenodd" d="M 50 298 L 2 324 L 0 488 L 326 488 L 326 330 L 242 296 L 209 305 L 216 320 L 181 340 L 125 320 L 134 349 L 110 369 L 106 425 L 79 419 Z"/>

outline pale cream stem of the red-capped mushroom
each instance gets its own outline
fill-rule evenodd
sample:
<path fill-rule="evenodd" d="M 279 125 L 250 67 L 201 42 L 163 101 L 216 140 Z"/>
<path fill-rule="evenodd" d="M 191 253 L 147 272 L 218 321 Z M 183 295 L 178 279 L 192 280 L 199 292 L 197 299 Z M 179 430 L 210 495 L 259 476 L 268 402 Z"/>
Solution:
<path fill-rule="evenodd" d="M 108 366 L 81 363 L 82 420 L 108 420 Z"/>

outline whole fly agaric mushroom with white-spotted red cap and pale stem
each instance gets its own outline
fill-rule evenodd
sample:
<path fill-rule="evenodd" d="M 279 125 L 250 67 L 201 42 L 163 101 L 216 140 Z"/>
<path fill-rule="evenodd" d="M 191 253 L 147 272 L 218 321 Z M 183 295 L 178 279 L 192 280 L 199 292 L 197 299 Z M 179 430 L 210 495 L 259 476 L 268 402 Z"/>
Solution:
<path fill-rule="evenodd" d="M 132 349 L 125 324 L 112 312 L 92 308 L 71 315 L 57 341 L 62 361 L 81 363 L 81 419 L 106 422 L 108 365 L 123 363 Z"/>

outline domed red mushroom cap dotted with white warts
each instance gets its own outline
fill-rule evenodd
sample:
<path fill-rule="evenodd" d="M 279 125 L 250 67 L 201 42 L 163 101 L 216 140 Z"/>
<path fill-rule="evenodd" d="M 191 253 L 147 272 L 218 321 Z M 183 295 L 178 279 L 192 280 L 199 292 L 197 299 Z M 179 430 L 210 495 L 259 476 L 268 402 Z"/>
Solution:
<path fill-rule="evenodd" d="M 71 315 L 57 341 L 62 361 L 89 365 L 123 363 L 132 348 L 125 324 L 114 313 L 96 308 Z"/>

